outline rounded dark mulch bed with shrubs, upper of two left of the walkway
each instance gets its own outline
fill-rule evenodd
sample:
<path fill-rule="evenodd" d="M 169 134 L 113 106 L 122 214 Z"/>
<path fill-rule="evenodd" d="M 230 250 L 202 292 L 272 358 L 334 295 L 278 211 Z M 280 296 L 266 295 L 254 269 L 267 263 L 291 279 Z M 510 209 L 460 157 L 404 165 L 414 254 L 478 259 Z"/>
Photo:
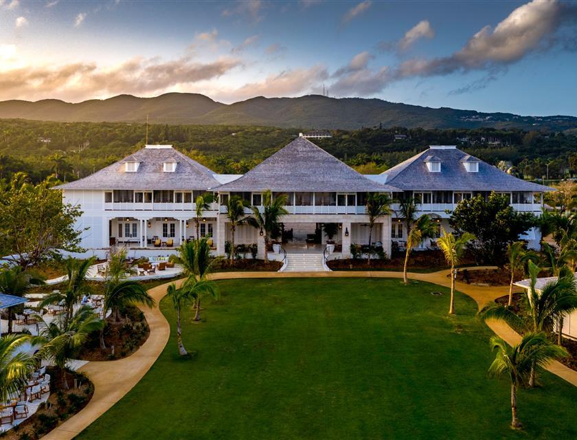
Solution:
<path fill-rule="evenodd" d="M 106 319 L 104 343 L 106 349 L 100 348 L 100 333 L 92 333 L 77 355 L 82 360 L 115 360 L 126 358 L 137 351 L 150 335 L 150 327 L 144 314 L 135 306 L 126 307 L 122 318 Z"/>

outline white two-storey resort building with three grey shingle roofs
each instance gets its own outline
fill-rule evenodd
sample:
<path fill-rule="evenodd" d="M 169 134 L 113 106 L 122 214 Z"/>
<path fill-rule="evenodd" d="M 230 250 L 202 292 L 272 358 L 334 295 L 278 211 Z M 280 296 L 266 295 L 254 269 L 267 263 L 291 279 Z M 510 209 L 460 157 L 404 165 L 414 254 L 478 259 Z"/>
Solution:
<path fill-rule="evenodd" d="M 517 210 L 539 214 L 542 193 L 550 190 L 512 177 L 455 146 L 431 146 L 381 175 L 361 175 L 306 138 L 300 136 L 245 175 L 219 175 L 170 145 L 147 145 L 96 173 L 56 187 L 66 203 L 78 205 L 82 216 L 80 245 L 88 255 L 104 258 L 111 246 L 124 246 L 130 256 L 170 254 L 196 236 L 196 197 L 214 192 L 212 203 L 198 219 L 199 235 L 212 237 L 214 252 L 225 254 L 230 239 L 224 203 L 239 195 L 262 206 L 262 192 L 288 196 L 282 219 L 286 252 L 318 252 L 329 238 L 324 223 L 335 223 L 335 256 L 350 256 L 351 243 L 368 245 L 368 192 L 387 193 L 393 199 L 415 197 L 420 213 L 438 219 L 449 230 L 447 211 L 477 194 L 504 193 Z M 403 247 L 403 223 L 394 213 L 378 219 L 372 244 L 390 255 L 392 241 Z M 247 214 L 249 214 L 247 210 Z M 523 237 L 537 245 L 536 231 Z M 249 225 L 237 228 L 236 244 L 258 244 L 264 238 Z M 422 247 L 427 246 L 424 243 Z M 331 248 L 333 250 L 333 248 Z"/>

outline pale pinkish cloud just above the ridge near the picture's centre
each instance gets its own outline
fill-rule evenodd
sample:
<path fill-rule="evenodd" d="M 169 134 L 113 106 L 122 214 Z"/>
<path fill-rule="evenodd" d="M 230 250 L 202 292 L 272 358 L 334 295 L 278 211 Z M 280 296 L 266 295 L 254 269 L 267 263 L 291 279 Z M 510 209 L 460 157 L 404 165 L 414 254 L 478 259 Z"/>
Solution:
<path fill-rule="evenodd" d="M 328 78 L 326 68 L 321 65 L 310 69 L 285 70 L 269 75 L 260 82 L 245 84 L 234 90 L 220 90 L 228 99 L 247 99 L 255 96 L 297 96 L 310 92 Z"/>

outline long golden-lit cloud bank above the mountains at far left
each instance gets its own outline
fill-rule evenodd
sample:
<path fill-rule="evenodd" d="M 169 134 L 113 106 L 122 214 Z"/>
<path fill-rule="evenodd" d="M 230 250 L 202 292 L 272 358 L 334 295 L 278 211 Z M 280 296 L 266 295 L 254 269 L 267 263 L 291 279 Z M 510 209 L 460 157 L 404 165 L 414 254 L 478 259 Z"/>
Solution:
<path fill-rule="evenodd" d="M 1 64 L 4 65 L 5 59 L 13 59 L 15 52 L 12 45 L 0 45 Z M 182 56 L 172 61 L 137 57 L 115 66 L 69 63 L 56 67 L 0 67 L 0 99 L 58 97 L 82 100 L 115 94 L 158 94 L 219 78 L 241 65 L 240 60 L 231 57 L 204 63 Z"/>

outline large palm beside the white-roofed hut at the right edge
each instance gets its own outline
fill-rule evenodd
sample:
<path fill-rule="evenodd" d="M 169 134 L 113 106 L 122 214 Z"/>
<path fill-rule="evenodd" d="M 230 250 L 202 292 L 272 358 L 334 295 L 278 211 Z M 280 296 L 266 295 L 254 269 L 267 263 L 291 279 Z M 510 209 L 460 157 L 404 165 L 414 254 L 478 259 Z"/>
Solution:
<path fill-rule="evenodd" d="M 567 267 L 560 272 L 556 281 L 547 283 L 539 291 L 536 289 L 537 275 L 541 267 L 528 262 L 530 282 L 527 292 L 529 320 L 524 320 L 511 309 L 493 303 L 488 305 L 479 316 L 483 320 L 494 319 L 506 322 L 513 329 L 527 329 L 531 333 L 539 333 L 552 328 L 554 320 L 559 316 L 571 313 L 577 309 L 577 289 L 574 276 Z M 532 369 L 529 384 L 534 386 L 535 369 Z"/>

